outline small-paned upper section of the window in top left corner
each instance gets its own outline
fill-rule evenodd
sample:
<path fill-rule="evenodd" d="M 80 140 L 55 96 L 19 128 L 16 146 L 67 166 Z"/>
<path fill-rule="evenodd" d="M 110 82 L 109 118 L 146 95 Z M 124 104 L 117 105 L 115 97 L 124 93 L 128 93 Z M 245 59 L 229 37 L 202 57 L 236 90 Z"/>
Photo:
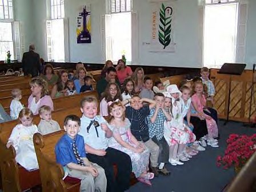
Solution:
<path fill-rule="evenodd" d="M 0 0 L 0 19 L 13 19 L 13 0 Z"/>

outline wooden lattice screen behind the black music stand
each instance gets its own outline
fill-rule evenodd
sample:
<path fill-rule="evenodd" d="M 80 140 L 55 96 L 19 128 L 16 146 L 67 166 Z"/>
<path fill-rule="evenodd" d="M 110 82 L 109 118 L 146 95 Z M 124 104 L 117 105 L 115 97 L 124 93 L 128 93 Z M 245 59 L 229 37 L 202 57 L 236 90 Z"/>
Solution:
<path fill-rule="evenodd" d="M 218 74 L 217 69 L 211 69 L 211 81 L 214 83 L 215 96 L 214 107 L 218 111 L 219 118 L 227 118 L 229 82 L 231 81 L 230 113 L 229 119 L 249 122 L 250 96 L 252 88 L 251 70 L 243 71 L 242 75 Z M 254 84 L 254 98 L 251 102 L 251 117 L 256 115 L 256 85 Z"/>

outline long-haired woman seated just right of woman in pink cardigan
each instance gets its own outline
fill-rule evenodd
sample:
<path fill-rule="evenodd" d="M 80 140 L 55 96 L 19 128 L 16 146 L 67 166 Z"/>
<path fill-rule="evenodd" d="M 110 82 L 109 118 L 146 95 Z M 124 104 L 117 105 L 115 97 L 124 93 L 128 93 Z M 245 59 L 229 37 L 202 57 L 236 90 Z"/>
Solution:
<path fill-rule="evenodd" d="M 67 79 L 68 74 L 66 70 L 61 70 L 59 72 L 59 78 L 57 83 L 53 86 L 53 90 L 51 91 L 51 98 L 61 97 L 67 95 Z"/>

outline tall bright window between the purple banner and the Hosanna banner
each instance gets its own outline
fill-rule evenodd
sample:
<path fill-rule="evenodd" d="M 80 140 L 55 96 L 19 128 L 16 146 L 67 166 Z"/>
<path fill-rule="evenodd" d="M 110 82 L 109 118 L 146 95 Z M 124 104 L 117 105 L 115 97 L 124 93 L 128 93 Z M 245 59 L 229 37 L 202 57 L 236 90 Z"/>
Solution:
<path fill-rule="evenodd" d="M 131 63 L 131 1 L 112 0 L 105 18 L 106 60 L 117 62 L 125 55 Z"/>

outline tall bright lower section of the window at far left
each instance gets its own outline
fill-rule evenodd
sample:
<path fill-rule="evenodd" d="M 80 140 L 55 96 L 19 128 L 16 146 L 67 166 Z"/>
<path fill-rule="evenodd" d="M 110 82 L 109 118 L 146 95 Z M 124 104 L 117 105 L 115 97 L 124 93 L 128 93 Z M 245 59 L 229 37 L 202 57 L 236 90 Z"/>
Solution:
<path fill-rule="evenodd" d="M 10 51 L 11 59 L 14 59 L 13 29 L 10 22 L 0 22 L 0 60 L 7 59 L 6 52 Z"/>

